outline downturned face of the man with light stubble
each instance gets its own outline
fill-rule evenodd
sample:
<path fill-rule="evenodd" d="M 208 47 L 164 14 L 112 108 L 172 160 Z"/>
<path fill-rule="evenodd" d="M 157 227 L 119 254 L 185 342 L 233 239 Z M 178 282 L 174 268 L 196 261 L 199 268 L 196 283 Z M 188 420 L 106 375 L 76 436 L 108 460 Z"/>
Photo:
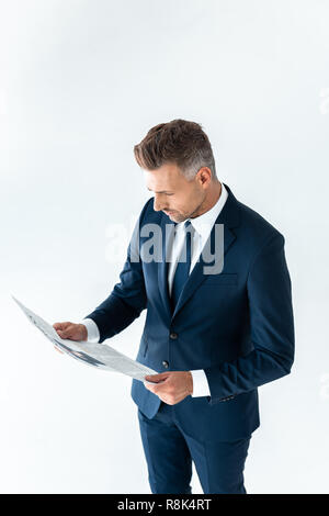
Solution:
<path fill-rule="evenodd" d="M 173 222 L 197 216 L 206 195 L 207 178 L 202 177 L 202 169 L 192 181 L 188 181 L 174 164 L 144 172 L 146 186 L 155 194 L 155 211 L 162 210 Z"/>

